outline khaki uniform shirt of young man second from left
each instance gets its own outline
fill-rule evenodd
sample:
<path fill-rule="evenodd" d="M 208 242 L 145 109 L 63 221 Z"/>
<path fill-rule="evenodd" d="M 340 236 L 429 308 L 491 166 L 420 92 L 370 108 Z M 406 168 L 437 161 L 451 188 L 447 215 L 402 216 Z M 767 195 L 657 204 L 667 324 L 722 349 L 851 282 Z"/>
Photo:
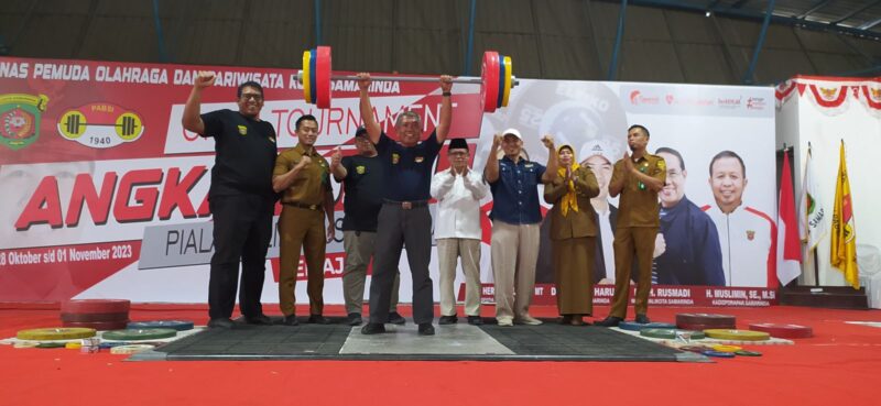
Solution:
<path fill-rule="evenodd" d="M 303 145 L 282 152 L 275 160 L 275 171 L 272 176 L 284 175 L 293 169 L 306 155 Z M 312 163 L 303 168 L 291 184 L 291 187 L 282 193 L 282 202 L 298 202 L 303 205 L 324 204 L 325 193 L 331 190 L 330 176 L 327 161 L 319 155 L 315 149 L 308 154 Z"/>

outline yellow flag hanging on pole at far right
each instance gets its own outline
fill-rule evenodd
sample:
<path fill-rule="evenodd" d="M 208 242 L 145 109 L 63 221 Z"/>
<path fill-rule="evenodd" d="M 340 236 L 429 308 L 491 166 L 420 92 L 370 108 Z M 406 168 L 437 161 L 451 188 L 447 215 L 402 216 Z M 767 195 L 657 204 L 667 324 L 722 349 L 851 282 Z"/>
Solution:
<path fill-rule="evenodd" d="M 857 268 L 857 230 L 853 228 L 853 204 L 850 199 L 850 180 L 847 176 L 847 163 L 845 163 L 844 140 L 838 161 L 838 179 L 835 182 L 831 243 L 833 266 L 845 274 L 845 279 L 850 286 L 858 289 L 860 278 Z"/>

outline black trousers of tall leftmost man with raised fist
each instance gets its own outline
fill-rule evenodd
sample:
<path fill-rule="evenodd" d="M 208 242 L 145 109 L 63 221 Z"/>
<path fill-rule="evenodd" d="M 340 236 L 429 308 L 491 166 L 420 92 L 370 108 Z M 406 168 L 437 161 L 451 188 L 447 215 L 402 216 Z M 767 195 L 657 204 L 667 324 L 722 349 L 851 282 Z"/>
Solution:
<path fill-rule="evenodd" d="M 214 217 L 214 255 L 208 281 L 208 315 L 230 318 L 236 306 L 241 261 L 241 314 L 263 314 L 260 295 L 267 271 L 267 251 L 272 239 L 275 200 L 260 195 L 215 196 L 208 200 Z"/>

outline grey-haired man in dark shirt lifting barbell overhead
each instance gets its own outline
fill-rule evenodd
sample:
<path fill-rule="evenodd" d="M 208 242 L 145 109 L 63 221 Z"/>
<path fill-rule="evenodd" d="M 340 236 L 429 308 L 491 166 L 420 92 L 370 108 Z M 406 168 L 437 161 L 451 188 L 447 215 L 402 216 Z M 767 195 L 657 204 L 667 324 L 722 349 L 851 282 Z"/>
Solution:
<path fill-rule="evenodd" d="M 428 263 L 432 260 L 432 213 L 428 211 L 434 162 L 449 133 L 453 121 L 450 89 L 453 79 L 440 76 L 440 116 L 437 128 L 420 142 L 423 123 L 420 114 L 404 111 L 398 114 L 394 124 L 399 142 L 382 132 L 370 103 L 370 75 L 358 75 L 360 110 L 370 141 L 385 167 L 384 202 L 379 211 L 377 227 L 376 260 L 370 282 L 370 322 L 361 332 L 376 334 L 385 331 L 389 322 L 389 306 L 392 283 L 401 260 L 401 250 L 406 245 L 406 259 L 413 275 L 413 321 L 422 336 L 433 336 L 434 297 Z"/>

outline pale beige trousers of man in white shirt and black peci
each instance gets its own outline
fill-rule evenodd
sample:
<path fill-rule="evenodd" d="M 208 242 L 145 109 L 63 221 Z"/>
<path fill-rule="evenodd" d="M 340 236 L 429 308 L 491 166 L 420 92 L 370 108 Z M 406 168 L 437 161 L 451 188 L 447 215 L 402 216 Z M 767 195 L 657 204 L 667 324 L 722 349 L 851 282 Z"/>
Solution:
<path fill-rule="evenodd" d="M 465 315 L 480 316 L 480 240 L 438 239 L 437 264 L 440 273 L 440 316 L 456 316 L 457 260 L 465 274 Z"/>

